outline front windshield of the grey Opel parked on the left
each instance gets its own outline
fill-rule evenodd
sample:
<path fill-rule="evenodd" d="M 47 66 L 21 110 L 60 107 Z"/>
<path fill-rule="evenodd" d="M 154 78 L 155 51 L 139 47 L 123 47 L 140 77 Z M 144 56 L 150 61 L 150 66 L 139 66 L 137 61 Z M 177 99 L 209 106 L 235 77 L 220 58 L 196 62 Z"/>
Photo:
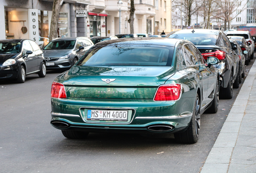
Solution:
<path fill-rule="evenodd" d="M 43 50 L 61 50 L 74 48 L 75 40 L 56 40 L 47 44 Z"/>

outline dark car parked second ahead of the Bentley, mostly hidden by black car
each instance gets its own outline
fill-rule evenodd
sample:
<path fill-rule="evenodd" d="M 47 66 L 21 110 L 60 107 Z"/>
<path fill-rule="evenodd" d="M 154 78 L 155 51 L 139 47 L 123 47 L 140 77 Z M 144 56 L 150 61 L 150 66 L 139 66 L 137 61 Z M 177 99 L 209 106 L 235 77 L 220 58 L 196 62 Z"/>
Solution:
<path fill-rule="evenodd" d="M 242 78 L 245 76 L 245 56 L 244 56 L 244 52 L 240 48 L 237 41 L 233 40 L 233 39 L 229 39 L 229 40 L 230 40 L 231 44 L 235 44 L 235 46 L 237 47 L 235 52 L 239 56 L 238 77 L 235 79 L 235 82 L 234 82 L 234 88 L 239 88 L 239 83 L 242 82 Z M 248 52 L 246 51 L 245 53 L 248 53 Z"/>

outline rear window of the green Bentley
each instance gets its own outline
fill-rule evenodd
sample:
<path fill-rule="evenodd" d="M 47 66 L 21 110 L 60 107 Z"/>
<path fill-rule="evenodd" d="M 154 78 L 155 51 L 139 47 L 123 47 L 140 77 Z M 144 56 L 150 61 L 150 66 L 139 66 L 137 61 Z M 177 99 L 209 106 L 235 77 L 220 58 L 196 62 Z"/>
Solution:
<path fill-rule="evenodd" d="M 173 47 L 148 45 L 109 45 L 90 49 L 78 66 L 171 66 Z"/>

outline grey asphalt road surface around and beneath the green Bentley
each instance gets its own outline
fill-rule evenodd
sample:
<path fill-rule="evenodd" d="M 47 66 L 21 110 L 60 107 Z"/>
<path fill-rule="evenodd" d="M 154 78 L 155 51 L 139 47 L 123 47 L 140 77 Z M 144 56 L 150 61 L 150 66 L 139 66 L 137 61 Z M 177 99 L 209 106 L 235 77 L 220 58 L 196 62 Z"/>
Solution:
<path fill-rule="evenodd" d="M 0 81 L 1 173 L 198 173 L 239 92 L 220 100 L 216 114 L 201 116 L 196 144 L 177 143 L 173 135 L 114 133 L 70 140 L 50 125 L 51 84 L 59 73 L 33 74 L 23 84 Z"/>

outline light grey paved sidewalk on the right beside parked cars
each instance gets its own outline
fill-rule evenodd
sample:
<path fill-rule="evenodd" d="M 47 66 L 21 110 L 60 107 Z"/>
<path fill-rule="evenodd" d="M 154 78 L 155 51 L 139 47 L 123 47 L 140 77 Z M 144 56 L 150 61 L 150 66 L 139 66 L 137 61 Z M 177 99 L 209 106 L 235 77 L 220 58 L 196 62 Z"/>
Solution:
<path fill-rule="evenodd" d="M 256 173 L 256 61 L 200 173 Z"/>

